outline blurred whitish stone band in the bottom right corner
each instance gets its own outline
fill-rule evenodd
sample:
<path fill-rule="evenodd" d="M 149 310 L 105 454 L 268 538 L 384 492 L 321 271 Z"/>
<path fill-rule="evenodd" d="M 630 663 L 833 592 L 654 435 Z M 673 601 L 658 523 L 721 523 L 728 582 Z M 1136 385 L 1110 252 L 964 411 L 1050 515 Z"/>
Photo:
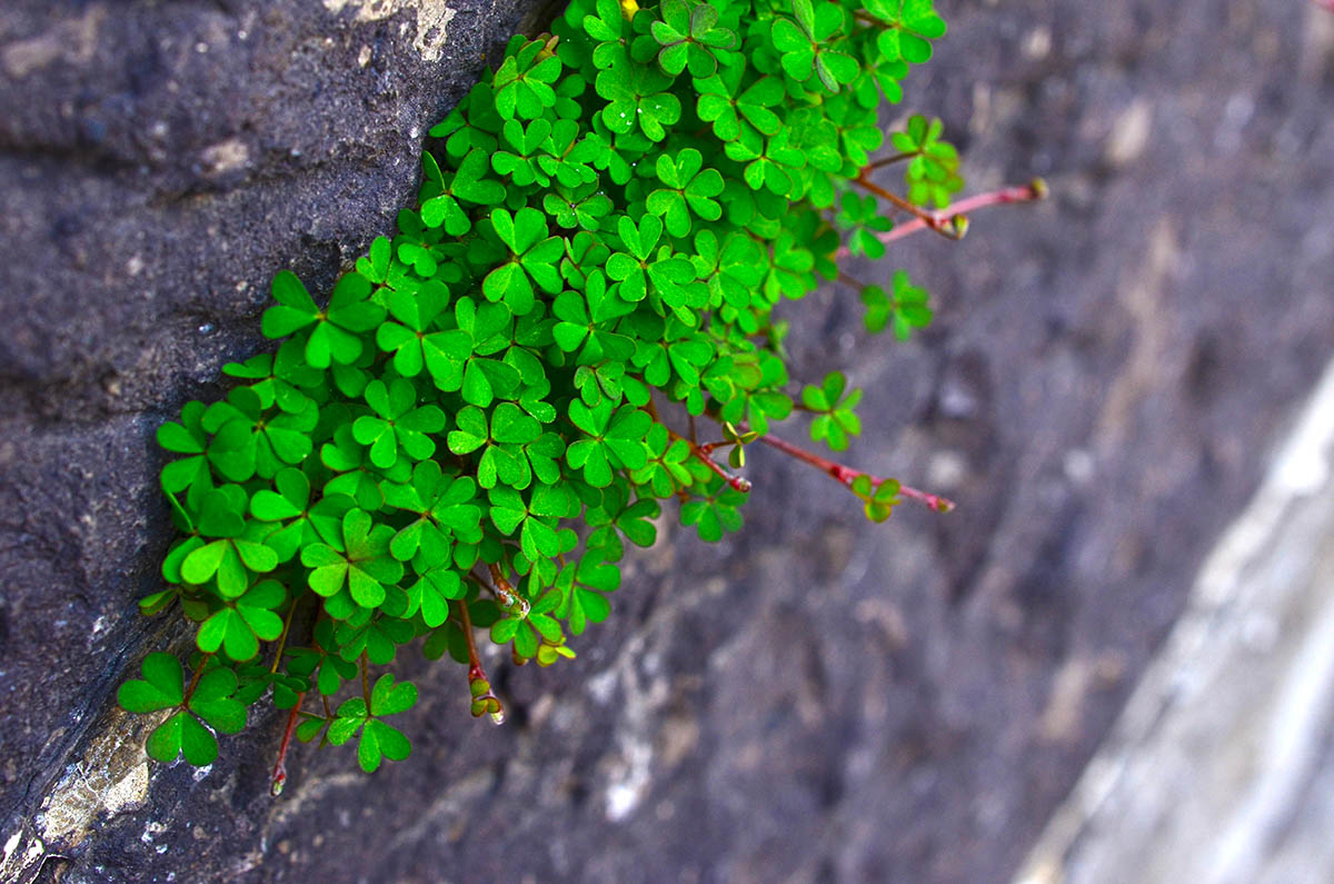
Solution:
<path fill-rule="evenodd" d="M 1017 881 L 1334 880 L 1334 365 Z"/>

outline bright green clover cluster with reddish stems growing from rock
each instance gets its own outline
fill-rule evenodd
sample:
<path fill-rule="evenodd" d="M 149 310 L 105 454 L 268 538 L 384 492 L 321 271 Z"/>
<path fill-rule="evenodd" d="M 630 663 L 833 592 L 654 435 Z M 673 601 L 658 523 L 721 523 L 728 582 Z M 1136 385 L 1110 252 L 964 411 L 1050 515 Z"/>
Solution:
<path fill-rule="evenodd" d="M 962 187 L 939 123 L 911 118 L 872 159 L 883 101 L 944 29 L 931 0 L 575 0 L 551 36 L 515 37 L 431 130 L 398 235 L 324 306 L 277 274 L 276 349 L 159 430 L 181 535 L 141 608 L 179 606 L 197 653 L 188 684 L 151 654 L 120 689 L 131 712 L 169 710 L 149 754 L 208 764 L 212 732 L 272 697 L 284 752 L 295 733 L 355 740 L 366 770 L 400 760 L 387 718 L 416 689 L 370 668 L 422 637 L 500 721 L 475 632 L 520 664 L 574 657 L 664 501 L 706 541 L 740 527 L 755 442 L 872 519 L 904 497 L 947 509 L 770 434 L 794 410 L 835 450 L 860 431 L 843 375 L 794 387 L 784 299 L 842 279 L 872 333 L 931 319 L 902 271 L 887 291 L 836 262 L 880 256 L 895 214 L 962 232 L 935 211 Z M 871 182 L 891 163 L 907 196 Z"/>

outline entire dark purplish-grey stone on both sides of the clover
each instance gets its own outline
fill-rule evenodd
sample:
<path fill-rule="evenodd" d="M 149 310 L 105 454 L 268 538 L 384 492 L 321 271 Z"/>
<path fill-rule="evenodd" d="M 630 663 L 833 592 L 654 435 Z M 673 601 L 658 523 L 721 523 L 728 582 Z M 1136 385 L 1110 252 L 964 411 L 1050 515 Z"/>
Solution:
<path fill-rule="evenodd" d="M 179 641 L 133 608 L 151 433 L 256 346 L 272 271 L 319 288 L 387 227 L 515 16 L 460 7 L 428 61 L 424 1 L 7 4 L 0 876 L 1005 880 L 1334 349 L 1334 61 L 1301 3 L 940 5 L 904 109 L 972 190 L 1055 198 L 895 247 L 938 296 L 919 342 L 828 291 L 791 346 L 867 389 L 851 461 L 959 511 L 872 527 L 756 453 L 744 533 L 667 527 L 579 661 L 495 666 L 510 725 L 404 661 L 412 760 L 297 749 L 275 803 L 276 717 L 147 789 L 123 750 L 115 685 Z"/>

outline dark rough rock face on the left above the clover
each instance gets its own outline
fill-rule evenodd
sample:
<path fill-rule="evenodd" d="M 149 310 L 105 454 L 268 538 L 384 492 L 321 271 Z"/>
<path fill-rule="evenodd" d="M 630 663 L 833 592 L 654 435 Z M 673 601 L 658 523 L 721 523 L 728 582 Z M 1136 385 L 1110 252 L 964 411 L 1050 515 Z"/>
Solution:
<path fill-rule="evenodd" d="M 167 539 L 155 425 L 255 350 L 275 271 L 327 290 L 390 230 L 424 131 L 519 15 L 467 0 L 0 9 L 7 832 L 87 752 L 153 628 L 133 600 Z"/>

